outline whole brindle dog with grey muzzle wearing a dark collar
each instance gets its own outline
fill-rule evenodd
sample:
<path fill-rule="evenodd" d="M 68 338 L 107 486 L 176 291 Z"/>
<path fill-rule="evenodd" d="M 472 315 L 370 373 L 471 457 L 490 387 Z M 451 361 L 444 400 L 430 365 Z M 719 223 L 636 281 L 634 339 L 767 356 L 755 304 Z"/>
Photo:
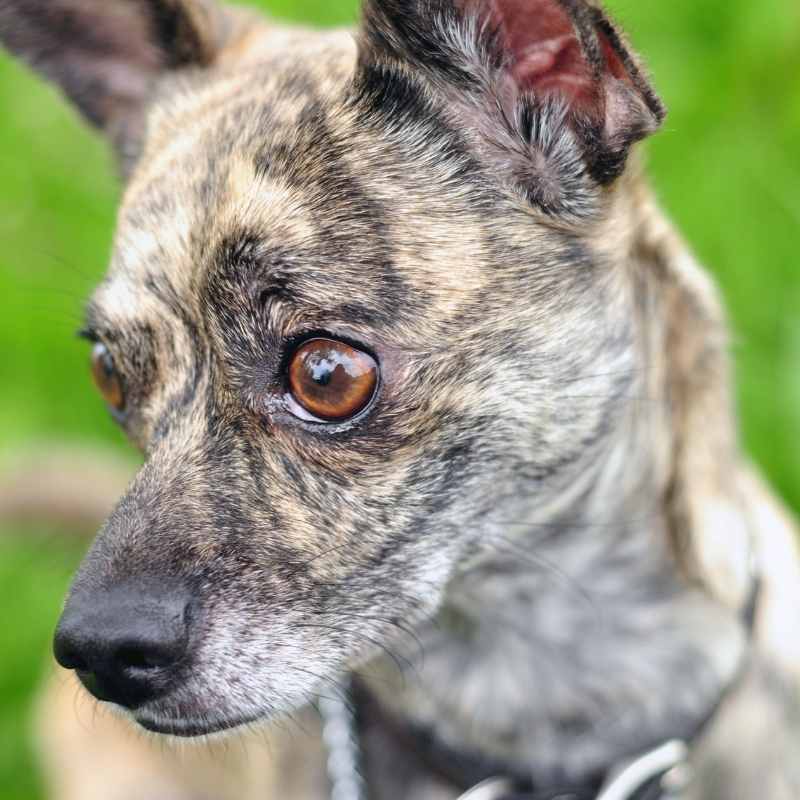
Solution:
<path fill-rule="evenodd" d="M 117 155 L 83 335 L 145 454 L 55 635 L 53 797 L 800 796 L 796 530 L 599 5 L 1 0 L 0 39 Z"/>

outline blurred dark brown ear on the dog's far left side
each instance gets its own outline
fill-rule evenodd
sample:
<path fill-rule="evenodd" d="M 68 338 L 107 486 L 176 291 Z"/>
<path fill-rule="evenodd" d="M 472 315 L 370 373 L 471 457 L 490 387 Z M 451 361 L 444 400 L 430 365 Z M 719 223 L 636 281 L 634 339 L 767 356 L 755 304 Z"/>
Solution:
<path fill-rule="evenodd" d="M 211 0 L 0 0 L 0 43 L 57 83 L 123 158 L 155 81 L 210 64 L 224 23 Z"/>

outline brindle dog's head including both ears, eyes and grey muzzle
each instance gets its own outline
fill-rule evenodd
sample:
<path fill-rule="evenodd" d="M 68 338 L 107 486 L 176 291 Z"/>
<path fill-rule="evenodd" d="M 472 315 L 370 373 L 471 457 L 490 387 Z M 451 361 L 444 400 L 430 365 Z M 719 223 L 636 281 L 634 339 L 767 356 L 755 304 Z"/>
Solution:
<path fill-rule="evenodd" d="M 52 5 L 6 2 L 0 35 L 129 172 L 86 336 L 146 454 L 57 654 L 154 730 L 266 718 L 607 445 L 635 361 L 614 208 L 662 110 L 584 3 L 372 0 L 357 44 Z"/>

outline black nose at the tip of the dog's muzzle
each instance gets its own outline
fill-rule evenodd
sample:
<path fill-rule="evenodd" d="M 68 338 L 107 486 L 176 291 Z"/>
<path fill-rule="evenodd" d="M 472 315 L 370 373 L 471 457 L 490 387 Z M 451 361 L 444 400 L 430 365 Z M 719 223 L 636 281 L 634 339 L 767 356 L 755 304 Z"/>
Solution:
<path fill-rule="evenodd" d="M 187 662 L 188 593 L 168 582 L 77 589 L 56 630 L 56 661 L 99 700 L 137 708 L 169 691 Z"/>

